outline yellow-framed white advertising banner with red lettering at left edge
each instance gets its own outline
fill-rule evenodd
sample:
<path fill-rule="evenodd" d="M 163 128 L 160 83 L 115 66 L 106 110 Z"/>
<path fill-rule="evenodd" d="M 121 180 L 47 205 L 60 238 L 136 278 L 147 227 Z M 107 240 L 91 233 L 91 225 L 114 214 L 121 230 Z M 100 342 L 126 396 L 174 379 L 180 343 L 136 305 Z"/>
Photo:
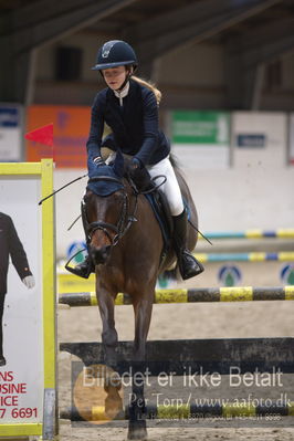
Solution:
<path fill-rule="evenodd" d="M 0 439 L 44 433 L 54 401 L 53 206 L 38 204 L 52 192 L 52 168 L 0 164 Z"/>

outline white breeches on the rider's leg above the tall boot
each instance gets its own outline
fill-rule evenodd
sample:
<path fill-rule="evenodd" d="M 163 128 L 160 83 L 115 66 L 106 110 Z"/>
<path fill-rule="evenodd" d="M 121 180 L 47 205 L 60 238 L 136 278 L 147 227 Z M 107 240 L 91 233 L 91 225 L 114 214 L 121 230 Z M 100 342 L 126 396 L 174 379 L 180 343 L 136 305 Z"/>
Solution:
<path fill-rule="evenodd" d="M 160 190 L 167 198 L 171 216 L 178 216 L 182 213 L 183 203 L 181 199 L 181 192 L 169 158 L 165 158 L 154 166 L 147 166 L 146 168 L 151 178 L 155 178 L 158 175 L 166 176 L 167 180 L 165 183 L 162 183 Z M 158 178 L 156 179 L 155 183 L 158 185 L 161 182 L 161 180 L 162 178 Z"/>

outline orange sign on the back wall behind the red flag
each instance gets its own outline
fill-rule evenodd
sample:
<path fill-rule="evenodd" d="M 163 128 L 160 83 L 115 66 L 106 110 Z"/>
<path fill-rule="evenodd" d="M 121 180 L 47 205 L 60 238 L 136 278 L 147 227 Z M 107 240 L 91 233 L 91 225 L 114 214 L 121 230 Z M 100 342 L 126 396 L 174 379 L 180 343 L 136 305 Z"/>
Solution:
<path fill-rule="evenodd" d="M 85 168 L 90 119 L 87 106 L 29 106 L 25 132 L 53 123 L 54 138 L 52 147 L 27 140 L 27 160 L 53 158 L 60 168 Z"/>

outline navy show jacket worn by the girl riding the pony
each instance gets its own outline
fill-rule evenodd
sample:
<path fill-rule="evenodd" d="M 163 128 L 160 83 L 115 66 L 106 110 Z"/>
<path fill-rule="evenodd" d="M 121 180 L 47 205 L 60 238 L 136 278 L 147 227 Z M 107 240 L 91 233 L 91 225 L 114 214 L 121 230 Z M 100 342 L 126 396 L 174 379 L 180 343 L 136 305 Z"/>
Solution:
<path fill-rule="evenodd" d="M 113 132 L 113 147 L 135 156 L 145 166 L 157 164 L 169 155 L 170 144 L 158 127 L 155 94 L 135 80 L 129 80 L 129 91 L 123 98 L 123 106 L 108 87 L 95 96 L 87 140 L 90 160 L 101 155 L 105 123 Z"/>

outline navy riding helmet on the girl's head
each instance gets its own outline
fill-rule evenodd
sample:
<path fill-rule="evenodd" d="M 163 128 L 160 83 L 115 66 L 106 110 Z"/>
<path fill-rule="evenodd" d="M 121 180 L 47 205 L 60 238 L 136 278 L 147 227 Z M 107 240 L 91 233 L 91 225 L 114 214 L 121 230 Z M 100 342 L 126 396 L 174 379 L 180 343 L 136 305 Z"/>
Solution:
<path fill-rule="evenodd" d="M 132 64 L 134 71 L 138 65 L 134 49 L 122 40 L 111 40 L 103 44 L 97 53 L 97 62 L 92 67 L 93 71 L 103 69 L 126 66 Z"/>

